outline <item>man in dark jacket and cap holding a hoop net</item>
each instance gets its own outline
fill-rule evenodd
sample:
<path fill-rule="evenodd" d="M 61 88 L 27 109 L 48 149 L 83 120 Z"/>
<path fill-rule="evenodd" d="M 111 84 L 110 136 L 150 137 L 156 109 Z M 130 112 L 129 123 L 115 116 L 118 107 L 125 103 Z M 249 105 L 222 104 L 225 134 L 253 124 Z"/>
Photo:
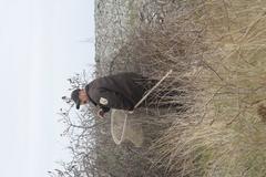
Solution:
<path fill-rule="evenodd" d="M 102 76 L 90 82 L 84 88 L 74 90 L 71 100 L 74 101 L 76 110 L 89 102 L 100 106 L 100 117 L 104 117 L 111 108 L 133 111 L 134 105 L 149 90 L 146 80 L 147 77 L 133 72 Z"/>

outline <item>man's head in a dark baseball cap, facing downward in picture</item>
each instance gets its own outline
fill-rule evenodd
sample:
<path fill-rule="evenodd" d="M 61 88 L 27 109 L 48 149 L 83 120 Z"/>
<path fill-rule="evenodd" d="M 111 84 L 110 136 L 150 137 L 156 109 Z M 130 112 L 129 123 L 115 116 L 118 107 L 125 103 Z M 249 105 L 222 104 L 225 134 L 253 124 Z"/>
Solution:
<path fill-rule="evenodd" d="M 80 108 L 80 105 L 89 102 L 89 96 L 85 90 L 80 88 L 76 88 L 71 93 L 71 98 L 74 101 L 76 110 Z"/>

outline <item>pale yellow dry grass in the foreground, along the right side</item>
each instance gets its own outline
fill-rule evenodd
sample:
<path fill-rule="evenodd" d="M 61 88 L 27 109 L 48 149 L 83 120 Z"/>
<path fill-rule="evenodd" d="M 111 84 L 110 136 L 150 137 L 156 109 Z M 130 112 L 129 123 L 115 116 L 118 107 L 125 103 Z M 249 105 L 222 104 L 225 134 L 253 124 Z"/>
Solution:
<path fill-rule="evenodd" d="M 197 110 L 186 119 L 176 115 L 155 143 L 157 165 L 176 176 L 266 175 L 265 107 L 259 106 L 266 101 L 265 7 L 260 1 L 213 0 L 193 11 L 192 20 L 206 30 L 193 83 L 201 88 L 200 98 L 190 107 Z"/>

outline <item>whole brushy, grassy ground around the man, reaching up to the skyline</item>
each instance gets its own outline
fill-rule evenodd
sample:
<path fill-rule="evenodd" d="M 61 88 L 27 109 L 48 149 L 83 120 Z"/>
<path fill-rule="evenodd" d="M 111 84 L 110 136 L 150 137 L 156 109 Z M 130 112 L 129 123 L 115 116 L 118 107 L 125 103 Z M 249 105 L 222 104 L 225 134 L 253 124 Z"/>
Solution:
<path fill-rule="evenodd" d="M 105 13 L 114 19 L 109 31 L 115 33 L 102 28 L 96 40 L 100 75 L 134 71 L 161 79 L 174 72 L 150 97 L 158 107 L 136 114 L 141 148 L 114 145 L 109 122 L 96 127 L 96 170 L 131 177 L 266 176 L 266 2 L 115 1 L 124 3 L 116 8 L 122 12 L 112 2 L 113 18 L 103 10 L 102 20 Z M 161 91 L 168 93 L 158 98 Z M 160 108 L 173 103 L 178 106 Z"/>

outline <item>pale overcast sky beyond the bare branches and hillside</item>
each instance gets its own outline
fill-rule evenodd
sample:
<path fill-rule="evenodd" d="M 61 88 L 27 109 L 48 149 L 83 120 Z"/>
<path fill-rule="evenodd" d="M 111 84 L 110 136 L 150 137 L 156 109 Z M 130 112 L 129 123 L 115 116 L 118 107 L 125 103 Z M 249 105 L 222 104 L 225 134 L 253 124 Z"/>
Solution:
<path fill-rule="evenodd" d="M 68 158 L 57 113 L 94 64 L 94 0 L 0 0 L 0 176 L 44 177 Z"/>

